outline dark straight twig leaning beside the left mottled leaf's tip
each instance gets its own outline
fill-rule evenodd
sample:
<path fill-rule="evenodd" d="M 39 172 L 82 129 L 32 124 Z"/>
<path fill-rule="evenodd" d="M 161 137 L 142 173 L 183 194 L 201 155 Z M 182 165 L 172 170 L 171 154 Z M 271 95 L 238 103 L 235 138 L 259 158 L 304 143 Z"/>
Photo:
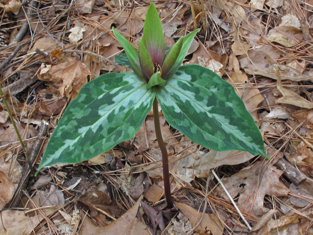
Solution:
<path fill-rule="evenodd" d="M 43 120 L 42 124 L 40 125 L 40 129 L 39 129 L 39 133 L 38 133 L 37 137 L 45 137 L 46 133 L 48 131 L 48 127 L 49 127 L 48 122 Z M 40 148 L 42 146 L 43 141 L 44 141 L 44 139 L 39 139 L 38 141 L 35 142 L 34 147 L 31 150 L 30 158 L 29 158 L 30 162 L 32 163 L 31 165 L 34 164 L 34 162 L 37 158 L 37 155 L 40 151 Z M 28 184 L 31 169 L 32 168 L 30 168 L 26 165 L 26 167 L 22 173 L 20 183 L 18 185 L 18 188 L 16 189 L 16 193 L 14 195 L 14 198 L 13 198 L 13 201 L 12 201 L 10 207 L 18 207 L 20 205 L 20 201 L 21 201 L 21 197 L 22 197 L 22 191 L 26 188 L 26 186 Z"/>

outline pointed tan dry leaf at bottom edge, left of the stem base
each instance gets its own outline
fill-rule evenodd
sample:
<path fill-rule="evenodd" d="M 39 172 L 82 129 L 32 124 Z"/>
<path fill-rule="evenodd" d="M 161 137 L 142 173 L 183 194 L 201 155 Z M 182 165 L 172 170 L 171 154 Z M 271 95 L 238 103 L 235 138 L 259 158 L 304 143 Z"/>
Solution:
<path fill-rule="evenodd" d="M 129 211 L 106 227 L 96 226 L 86 216 L 83 224 L 81 225 L 81 235 L 150 235 L 146 225 L 136 218 L 141 199 L 142 196 Z"/>

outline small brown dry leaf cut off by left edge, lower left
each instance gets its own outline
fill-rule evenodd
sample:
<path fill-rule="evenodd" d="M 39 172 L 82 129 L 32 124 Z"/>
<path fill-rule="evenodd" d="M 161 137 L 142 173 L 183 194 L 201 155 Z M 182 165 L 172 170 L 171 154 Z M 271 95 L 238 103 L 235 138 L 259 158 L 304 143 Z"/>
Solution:
<path fill-rule="evenodd" d="M 14 195 L 14 184 L 0 171 L 0 210 L 3 209 Z"/>

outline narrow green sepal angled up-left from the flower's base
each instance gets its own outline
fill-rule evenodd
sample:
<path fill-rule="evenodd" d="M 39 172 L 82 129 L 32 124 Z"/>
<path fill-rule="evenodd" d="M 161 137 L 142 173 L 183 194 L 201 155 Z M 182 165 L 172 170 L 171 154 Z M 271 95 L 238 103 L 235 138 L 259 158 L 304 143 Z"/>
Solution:
<path fill-rule="evenodd" d="M 138 52 L 136 49 L 133 47 L 133 45 L 127 41 L 126 38 L 124 38 L 119 32 L 117 32 L 114 27 L 112 27 L 112 31 L 117 39 L 117 41 L 122 45 L 124 48 L 127 58 L 129 60 L 129 63 L 134 71 L 134 73 L 137 75 L 137 77 L 143 81 L 143 82 L 148 82 L 148 77 L 146 74 L 143 72 L 143 70 L 140 67 L 139 63 L 139 56 Z"/>

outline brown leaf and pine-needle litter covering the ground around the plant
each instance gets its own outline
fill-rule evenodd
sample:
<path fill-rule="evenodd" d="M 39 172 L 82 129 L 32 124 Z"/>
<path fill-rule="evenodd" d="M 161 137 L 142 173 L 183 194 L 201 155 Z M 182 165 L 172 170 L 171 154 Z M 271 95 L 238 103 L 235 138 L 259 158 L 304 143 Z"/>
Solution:
<path fill-rule="evenodd" d="M 114 64 L 122 48 L 111 28 L 138 45 L 150 2 L 52 0 L 41 2 L 38 14 L 35 10 L 27 17 L 32 31 L 27 29 L 20 42 L 22 50 L 0 72 L 1 86 L 6 87 L 5 95 L 29 152 L 39 138 L 40 121 L 49 121 L 48 139 L 84 84 L 106 72 L 129 71 Z M 173 45 L 186 30 L 194 30 L 190 2 L 154 2 L 166 46 Z M 193 3 L 200 14 L 201 1 Z M 224 176 L 222 182 L 254 226 L 253 232 L 313 233 L 312 2 L 218 0 L 215 4 L 204 1 L 204 5 L 208 31 L 201 29 L 184 63 L 209 68 L 234 87 L 260 127 L 270 161 L 246 152 L 216 152 L 195 145 L 168 126 L 159 110 L 172 193 L 180 210 L 172 211 L 174 218 L 166 218 L 161 155 L 151 116 L 132 140 L 112 151 L 81 164 L 54 165 L 44 169 L 38 181 L 31 178 L 22 194 L 20 208 L 24 210 L 18 211 L 10 208 L 10 200 L 24 180 L 26 162 L 1 103 L 0 206 L 9 210 L 1 212 L 0 234 L 5 230 L 5 234 L 24 235 L 161 234 L 162 230 L 186 234 L 204 210 L 205 182 L 213 168 Z M 18 22 L 29 13 L 16 0 L 1 1 L 0 9 L 3 63 L 15 48 L 12 42 L 20 30 Z M 196 21 L 203 27 L 201 17 Z M 32 73 L 25 73 L 29 71 Z M 18 81 L 29 74 L 34 83 L 18 87 Z M 306 180 L 300 185 L 291 183 L 284 169 L 274 166 L 280 158 Z M 217 181 L 211 179 L 209 189 L 209 209 L 194 234 L 248 232 Z"/>

